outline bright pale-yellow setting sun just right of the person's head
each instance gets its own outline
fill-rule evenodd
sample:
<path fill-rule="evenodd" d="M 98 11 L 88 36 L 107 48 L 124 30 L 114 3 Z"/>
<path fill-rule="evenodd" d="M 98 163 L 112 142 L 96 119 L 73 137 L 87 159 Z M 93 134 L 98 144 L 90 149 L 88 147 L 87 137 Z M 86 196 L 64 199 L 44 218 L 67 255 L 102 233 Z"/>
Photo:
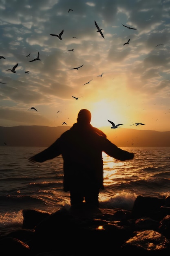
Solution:
<path fill-rule="evenodd" d="M 91 125 L 97 128 L 108 126 L 108 119 L 115 123 L 121 121 L 116 102 L 109 102 L 106 99 L 94 103 L 91 115 Z"/>

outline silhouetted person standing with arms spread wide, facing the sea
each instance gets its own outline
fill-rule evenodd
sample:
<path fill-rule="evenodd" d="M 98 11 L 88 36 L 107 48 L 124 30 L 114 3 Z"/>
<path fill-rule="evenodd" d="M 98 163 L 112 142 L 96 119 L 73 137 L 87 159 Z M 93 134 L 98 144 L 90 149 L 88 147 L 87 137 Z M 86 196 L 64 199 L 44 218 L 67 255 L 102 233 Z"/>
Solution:
<path fill-rule="evenodd" d="M 77 123 L 29 161 L 44 162 L 62 154 L 63 186 L 64 191 L 70 191 L 71 205 L 81 205 L 85 200 L 99 207 L 99 190 L 104 189 L 102 152 L 121 161 L 133 159 L 134 154 L 118 148 L 90 122 L 91 112 L 80 110 Z"/>

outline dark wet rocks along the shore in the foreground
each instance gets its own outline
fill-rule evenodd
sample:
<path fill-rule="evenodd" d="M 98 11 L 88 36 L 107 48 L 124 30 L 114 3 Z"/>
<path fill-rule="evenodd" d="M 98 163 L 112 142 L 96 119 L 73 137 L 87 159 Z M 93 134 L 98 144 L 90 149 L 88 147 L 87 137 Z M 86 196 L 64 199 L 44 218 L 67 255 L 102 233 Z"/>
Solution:
<path fill-rule="evenodd" d="M 22 229 L 0 236 L 0 255 L 170 255 L 170 197 L 138 196 L 131 211 L 84 203 L 22 214 Z"/>

